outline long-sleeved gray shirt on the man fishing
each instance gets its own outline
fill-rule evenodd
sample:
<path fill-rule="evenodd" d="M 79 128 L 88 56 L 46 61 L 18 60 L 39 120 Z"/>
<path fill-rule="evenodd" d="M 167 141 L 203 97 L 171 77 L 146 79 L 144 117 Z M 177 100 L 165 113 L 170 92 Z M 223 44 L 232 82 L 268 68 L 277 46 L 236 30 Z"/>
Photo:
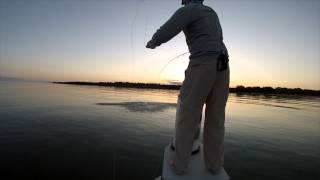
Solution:
<path fill-rule="evenodd" d="M 159 46 L 181 31 L 186 36 L 191 61 L 198 61 L 197 59 L 201 56 L 217 55 L 227 50 L 223 43 L 218 15 L 208 6 L 191 3 L 178 9 L 157 30 L 152 41 L 156 46 Z"/>

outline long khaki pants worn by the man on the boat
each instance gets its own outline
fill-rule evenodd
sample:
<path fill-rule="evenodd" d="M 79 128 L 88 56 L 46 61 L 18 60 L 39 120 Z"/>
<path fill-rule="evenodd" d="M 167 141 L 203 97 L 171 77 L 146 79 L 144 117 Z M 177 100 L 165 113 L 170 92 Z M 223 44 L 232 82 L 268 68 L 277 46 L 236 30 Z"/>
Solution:
<path fill-rule="evenodd" d="M 217 58 L 215 56 L 206 58 Z M 229 68 L 216 70 L 212 64 L 189 65 L 178 98 L 176 143 L 173 161 L 178 174 L 187 172 L 199 117 L 206 104 L 203 132 L 205 166 L 219 171 L 224 161 L 225 107 L 229 94 Z"/>

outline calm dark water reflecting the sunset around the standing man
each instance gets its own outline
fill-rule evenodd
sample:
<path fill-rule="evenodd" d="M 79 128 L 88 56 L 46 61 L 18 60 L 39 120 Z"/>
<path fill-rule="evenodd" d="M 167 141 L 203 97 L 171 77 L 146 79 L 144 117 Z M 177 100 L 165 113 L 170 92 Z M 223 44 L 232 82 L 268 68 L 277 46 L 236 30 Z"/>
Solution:
<path fill-rule="evenodd" d="M 0 178 L 153 180 L 177 95 L 0 82 Z M 232 179 L 319 180 L 320 99 L 230 94 L 225 150 Z"/>

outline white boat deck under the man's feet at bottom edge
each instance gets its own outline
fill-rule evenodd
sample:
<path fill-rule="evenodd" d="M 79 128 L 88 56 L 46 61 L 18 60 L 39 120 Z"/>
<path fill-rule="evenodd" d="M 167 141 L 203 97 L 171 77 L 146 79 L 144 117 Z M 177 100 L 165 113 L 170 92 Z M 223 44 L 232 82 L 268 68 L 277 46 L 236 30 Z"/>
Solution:
<path fill-rule="evenodd" d="M 164 151 L 162 177 L 156 180 L 229 180 L 229 176 L 223 169 L 220 174 L 213 175 L 206 171 L 203 161 L 203 148 L 201 144 L 200 153 L 191 156 L 189 171 L 186 175 L 178 176 L 169 167 L 169 157 L 173 151 L 168 145 Z"/>

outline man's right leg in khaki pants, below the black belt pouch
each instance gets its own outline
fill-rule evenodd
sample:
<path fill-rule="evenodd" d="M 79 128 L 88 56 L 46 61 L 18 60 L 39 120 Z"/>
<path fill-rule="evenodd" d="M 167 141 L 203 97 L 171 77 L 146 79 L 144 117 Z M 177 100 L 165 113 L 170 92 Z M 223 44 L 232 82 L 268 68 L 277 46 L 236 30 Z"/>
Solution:
<path fill-rule="evenodd" d="M 204 122 L 204 159 L 206 168 L 218 173 L 224 163 L 225 106 L 229 94 L 229 69 L 217 72 L 216 82 L 207 98 Z"/>

